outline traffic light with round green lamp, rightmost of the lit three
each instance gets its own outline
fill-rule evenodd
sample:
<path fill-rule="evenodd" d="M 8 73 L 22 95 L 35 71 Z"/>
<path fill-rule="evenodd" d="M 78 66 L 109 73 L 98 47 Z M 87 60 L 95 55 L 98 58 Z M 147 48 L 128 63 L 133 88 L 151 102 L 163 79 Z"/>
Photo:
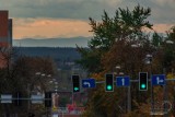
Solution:
<path fill-rule="evenodd" d="M 148 91 L 148 72 L 139 72 L 139 91 Z"/>

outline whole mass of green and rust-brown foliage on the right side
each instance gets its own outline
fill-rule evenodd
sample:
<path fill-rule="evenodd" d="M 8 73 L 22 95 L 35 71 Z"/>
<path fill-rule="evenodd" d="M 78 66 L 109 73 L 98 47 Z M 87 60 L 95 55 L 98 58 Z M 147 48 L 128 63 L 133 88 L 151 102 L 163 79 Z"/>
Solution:
<path fill-rule="evenodd" d="M 138 4 L 132 11 L 128 8 L 119 8 L 114 17 L 109 17 L 104 11 L 102 22 L 90 17 L 91 32 L 94 36 L 89 42 L 89 48 L 78 47 L 82 56 L 79 63 L 92 73 L 92 78 L 100 81 L 104 81 L 107 72 L 119 75 L 117 66 L 120 66 L 120 71 L 131 79 L 138 79 L 138 73 L 142 71 L 147 71 L 151 75 L 152 73 L 168 73 L 174 70 L 175 27 L 173 26 L 166 32 L 166 37 L 156 32 L 151 37 L 143 32 L 144 28 L 152 30 L 153 25 L 148 21 L 150 15 L 150 8 L 144 9 Z M 148 54 L 152 56 L 147 57 Z M 103 84 L 98 84 L 95 90 L 89 92 L 84 116 L 140 117 L 150 115 L 151 94 L 148 92 L 151 92 L 151 89 L 145 93 L 139 92 L 138 85 L 132 83 L 130 87 L 132 106 L 131 112 L 127 112 L 126 89 L 115 87 L 113 93 L 107 94 L 103 87 Z M 155 101 L 161 102 L 164 98 L 162 87 L 154 89 L 153 93 Z M 168 95 L 171 98 L 175 97 Z"/>

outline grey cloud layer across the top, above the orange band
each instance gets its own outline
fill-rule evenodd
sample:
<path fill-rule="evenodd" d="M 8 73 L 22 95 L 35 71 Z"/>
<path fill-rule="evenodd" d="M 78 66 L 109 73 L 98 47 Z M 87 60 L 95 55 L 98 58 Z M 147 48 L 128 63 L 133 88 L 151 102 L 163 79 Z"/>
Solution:
<path fill-rule="evenodd" d="M 1 0 L 0 8 L 10 10 L 12 17 L 101 19 L 103 11 L 114 15 L 115 10 L 137 4 L 152 10 L 154 23 L 175 23 L 175 0 Z"/>

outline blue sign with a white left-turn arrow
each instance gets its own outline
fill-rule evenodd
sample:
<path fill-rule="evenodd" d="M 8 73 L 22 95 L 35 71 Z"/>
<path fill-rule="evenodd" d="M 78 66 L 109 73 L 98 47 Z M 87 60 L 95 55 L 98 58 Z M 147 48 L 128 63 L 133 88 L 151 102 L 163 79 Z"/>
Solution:
<path fill-rule="evenodd" d="M 82 87 L 95 87 L 95 79 L 83 79 Z"/>

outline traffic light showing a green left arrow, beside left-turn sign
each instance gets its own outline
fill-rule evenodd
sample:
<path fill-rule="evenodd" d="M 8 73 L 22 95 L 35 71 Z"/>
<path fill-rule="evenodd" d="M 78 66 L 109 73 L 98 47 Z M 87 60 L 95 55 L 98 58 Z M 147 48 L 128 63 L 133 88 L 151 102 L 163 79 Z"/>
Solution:
<path fill-rule="evenodd" d="M 72 75 L 73 92 L 80 92 L 80 78 L 78 74 Z"/>

